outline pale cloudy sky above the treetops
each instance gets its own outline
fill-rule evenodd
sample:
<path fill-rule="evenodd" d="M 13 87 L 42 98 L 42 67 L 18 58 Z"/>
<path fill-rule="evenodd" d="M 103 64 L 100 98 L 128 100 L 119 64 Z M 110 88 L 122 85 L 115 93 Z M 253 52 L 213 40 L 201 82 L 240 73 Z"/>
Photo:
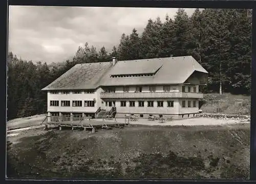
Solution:
<path fill-rule="evenodd" d="M 174 18 L 177 8 L 46 7 L 10 6 L 8 50 L 33 62 L 63 62 L 88 42 L 97 50 L 111 52 L 122 33 L 133 28 L 141 34 L 148 19 L 166 14 Z M 195 9 L 185 9 L 190 16 Z"/>

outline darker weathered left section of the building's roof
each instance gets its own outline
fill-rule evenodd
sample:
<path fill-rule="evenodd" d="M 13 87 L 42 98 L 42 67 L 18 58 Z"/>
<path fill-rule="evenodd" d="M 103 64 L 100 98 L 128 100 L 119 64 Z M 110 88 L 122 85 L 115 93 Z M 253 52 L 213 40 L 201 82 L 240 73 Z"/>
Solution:
<path fill-rule="evenodd" d="M 76 64 L 42 90 L 95 89 L 111 66 L 112 62 Z"/>

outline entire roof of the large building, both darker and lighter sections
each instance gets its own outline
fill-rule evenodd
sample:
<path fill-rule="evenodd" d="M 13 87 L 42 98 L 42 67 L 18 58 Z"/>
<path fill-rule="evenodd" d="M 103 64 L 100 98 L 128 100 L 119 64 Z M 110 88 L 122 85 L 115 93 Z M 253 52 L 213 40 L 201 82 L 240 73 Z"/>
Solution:
<path fill-rule="evenodd" d="M 158 71 L 157 71 L 158 70 Z M 157 72 L 156 72 L 157 71 Z M 192 56 L 76 64 L 42 90 L 95 89 L 99 86 L 184 83 L 195 71 L 208 73 Z M 147 77 L 117 77 L 120 74 L 155 73 Z"/>

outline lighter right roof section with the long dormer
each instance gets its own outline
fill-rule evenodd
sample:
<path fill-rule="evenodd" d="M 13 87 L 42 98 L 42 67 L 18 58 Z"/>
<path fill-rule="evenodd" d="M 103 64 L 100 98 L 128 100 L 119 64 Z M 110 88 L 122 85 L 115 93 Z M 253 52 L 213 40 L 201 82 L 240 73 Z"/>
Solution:
<path fill-rule="evenodd" d="M 184 83 L 195 71 L 208 73 L 192 56 L 118 61 L 117 66 L 124 65 L 124 63 L 129 64 L 129 70 L 131 70 L 131 72 L 143 71 L 144 67 L 146 68 L 150 65 L 161 67 L 154 76 L 111 78 L 110 76 L 116 71 L 115 65 L 108 73 L 105 74 L 99 83 L 102 86 L 180 84 Z M 127 74 L 131 73 L 130 71 L 125 72 Z"/>

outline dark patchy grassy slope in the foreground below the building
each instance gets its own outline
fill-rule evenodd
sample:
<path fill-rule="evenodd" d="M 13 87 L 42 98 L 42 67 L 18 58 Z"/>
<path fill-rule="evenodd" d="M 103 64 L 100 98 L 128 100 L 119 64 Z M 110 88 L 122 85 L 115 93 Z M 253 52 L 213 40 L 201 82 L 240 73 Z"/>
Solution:
<path fill-rule="evenodd" d="M 53 130 L 11 145 L 7 176 L 247 178 L 249 136 L 248 124 Z"/>

